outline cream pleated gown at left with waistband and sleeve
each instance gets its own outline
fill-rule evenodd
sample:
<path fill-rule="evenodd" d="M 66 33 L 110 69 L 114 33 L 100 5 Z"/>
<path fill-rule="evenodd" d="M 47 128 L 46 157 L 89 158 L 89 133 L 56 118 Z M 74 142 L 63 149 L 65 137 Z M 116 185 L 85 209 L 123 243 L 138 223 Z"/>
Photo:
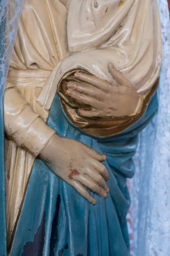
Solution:
<path fill-rule="evenodd" d="M 48 111 L 36 99 L 58 61 L 66 56 L 66 16 L 58 0 L 25 0 L 23 4 L 4 94 L 8 244 L 34 159 L 55 133 L 42 121 Z"/>

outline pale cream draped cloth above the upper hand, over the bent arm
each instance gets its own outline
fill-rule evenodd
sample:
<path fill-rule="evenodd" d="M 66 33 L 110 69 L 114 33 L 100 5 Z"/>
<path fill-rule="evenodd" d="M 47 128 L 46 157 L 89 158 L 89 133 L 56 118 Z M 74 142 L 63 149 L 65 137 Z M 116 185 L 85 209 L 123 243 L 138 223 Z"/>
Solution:
<path fill-rule="evenodd" d="M 67 41 L 70 55 L 54 70 L 51 87 L 44 86 L 38 97 L 41 105 L 46 101 L 46 109 L 60 79 L 77 67 L 113 82 L 107 68 L 113 62 L 143 97 L 159 77 L 161 34 L 156 0 L 69 1 Z"/>

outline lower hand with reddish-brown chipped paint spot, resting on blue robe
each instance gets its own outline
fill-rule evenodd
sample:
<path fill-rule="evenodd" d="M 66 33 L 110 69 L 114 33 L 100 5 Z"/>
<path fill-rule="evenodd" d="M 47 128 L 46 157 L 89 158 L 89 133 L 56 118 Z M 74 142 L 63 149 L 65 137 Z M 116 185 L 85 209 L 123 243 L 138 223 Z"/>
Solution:
<path fill-rule="evenodd" d="M 109 187 L 104 179 L 108 180 L 109 174 L 101 163 L 106 160 L 105 155 L 79 141 L 55 134 L 41 151 L 40 158 L 90 203 L 95 204 L 96 201 L 86 188 L 103 198 L 107 197 Z"/>

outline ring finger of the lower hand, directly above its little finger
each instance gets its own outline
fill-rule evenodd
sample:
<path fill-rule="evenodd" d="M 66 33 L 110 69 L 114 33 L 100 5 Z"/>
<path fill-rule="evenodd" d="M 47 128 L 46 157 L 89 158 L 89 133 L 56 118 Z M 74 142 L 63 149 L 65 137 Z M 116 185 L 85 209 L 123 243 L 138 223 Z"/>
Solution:
<path fill-rule="evenodd" d="M 90 189 L 93 193 L 97 194 L 100 197 L 106 198 L 107 193 L 103 187 L 101 187 L 99 184 L 95 182 L 95 180 L 92 180 L 87 175 L 79 175 L 75 176 L 75 180 L 79 181 L 83 186 Z"/>

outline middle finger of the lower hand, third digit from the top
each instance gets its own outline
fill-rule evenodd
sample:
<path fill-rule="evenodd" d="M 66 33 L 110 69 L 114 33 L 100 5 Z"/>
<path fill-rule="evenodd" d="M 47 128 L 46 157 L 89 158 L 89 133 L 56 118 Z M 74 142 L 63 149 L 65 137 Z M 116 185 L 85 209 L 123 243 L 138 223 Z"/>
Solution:
<path fill-rule="evenodd" d="M 101 186 L 106 192 L 110 191 L 103 177 L 93 167 L 87 169 L 86 175 L 89 176 L 90 179 L 92 179 L 99 186 Z"/>

